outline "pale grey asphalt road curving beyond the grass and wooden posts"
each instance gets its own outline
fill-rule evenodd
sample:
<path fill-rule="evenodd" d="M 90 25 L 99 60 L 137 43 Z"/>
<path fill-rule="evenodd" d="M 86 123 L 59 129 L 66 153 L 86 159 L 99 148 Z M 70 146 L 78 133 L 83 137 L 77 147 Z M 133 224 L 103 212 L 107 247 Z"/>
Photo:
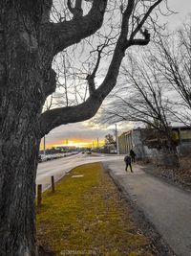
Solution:
<path fill-rule="evenodd" d="M 70 172 L 74 167 L 93 162 L 104 162 L 111 160 L 122 160 L 121 155 L 104 155 L 104 154 L 82 154 L 78 153 L 52 161 L 42 162 L 38 164 L 36 184 L 42 184 L 43 191 L 51 186 L 51 176 L 54 180 L 60 179 L 62 176 Z"/>

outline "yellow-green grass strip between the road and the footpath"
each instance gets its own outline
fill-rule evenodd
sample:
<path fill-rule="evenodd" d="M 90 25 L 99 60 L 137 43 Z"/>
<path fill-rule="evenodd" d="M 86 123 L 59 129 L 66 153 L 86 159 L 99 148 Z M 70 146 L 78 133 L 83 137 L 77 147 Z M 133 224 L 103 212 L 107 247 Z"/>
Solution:
<path fill-rule="evenodd" d="M 75 168 L 55 189 L 43 194 L 37 209 L 38 244 L 56 255 L 152 255 L 100 163 Z"/>

